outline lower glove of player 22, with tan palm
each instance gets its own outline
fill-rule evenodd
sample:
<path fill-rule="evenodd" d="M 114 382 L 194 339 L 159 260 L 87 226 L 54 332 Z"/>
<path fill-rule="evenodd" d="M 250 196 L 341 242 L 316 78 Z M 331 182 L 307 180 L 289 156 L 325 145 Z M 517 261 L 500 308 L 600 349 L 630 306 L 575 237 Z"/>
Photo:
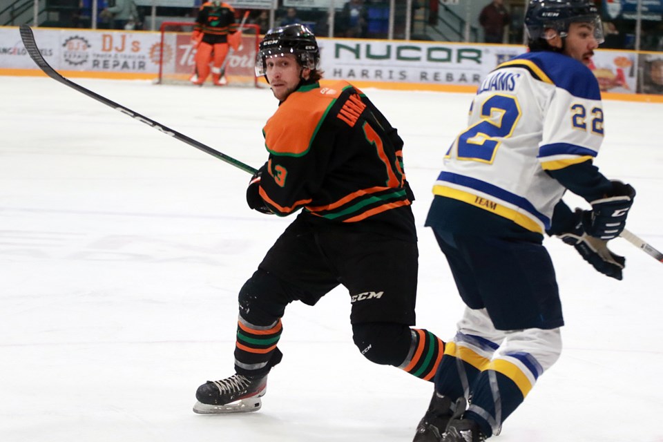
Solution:
<path fill-rule="evenodd" d="M 580 209 L 575 213 L 578 218 L 582 218 L 584 214 Z M 583 231 L 582 222 L 579 221 L 573 231 L 558 236 L 566 244 L 575 247 L 580 256 L 597 271 L 616 280 L 622 280 L 622 269 L 626 267 L 626 259 L 611 252 L 608 249 L 608 241 L 588 236 Z"/>

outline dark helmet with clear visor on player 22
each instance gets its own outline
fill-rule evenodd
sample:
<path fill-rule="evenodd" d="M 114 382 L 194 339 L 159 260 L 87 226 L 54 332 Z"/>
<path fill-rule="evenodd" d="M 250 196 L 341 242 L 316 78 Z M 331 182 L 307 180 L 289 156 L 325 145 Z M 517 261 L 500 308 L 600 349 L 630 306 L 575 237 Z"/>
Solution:
<path fill-rule="evenodd" d="M 570 23 L 593 23 L 594 38 L 604 41 L 603 25 L 593 0 L 530 0 L 525 14 L 525 29 L 530 42 L 544 37 L 544 30 L 552 28 L 564 38 Z"/>

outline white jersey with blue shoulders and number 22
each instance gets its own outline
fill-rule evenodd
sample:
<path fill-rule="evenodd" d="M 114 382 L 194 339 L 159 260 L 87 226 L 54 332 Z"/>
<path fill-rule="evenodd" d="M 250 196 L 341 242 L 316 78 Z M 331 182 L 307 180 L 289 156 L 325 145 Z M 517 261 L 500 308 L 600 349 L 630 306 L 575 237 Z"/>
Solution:
<path fill-rule="evenodd" d="M 589 68 L 557 52 L 520 55 L 481 84 L 433 193 L 543 233 L 565 190 L 546 170 L 592 159 L 603 136 L 599 85 Z"/>

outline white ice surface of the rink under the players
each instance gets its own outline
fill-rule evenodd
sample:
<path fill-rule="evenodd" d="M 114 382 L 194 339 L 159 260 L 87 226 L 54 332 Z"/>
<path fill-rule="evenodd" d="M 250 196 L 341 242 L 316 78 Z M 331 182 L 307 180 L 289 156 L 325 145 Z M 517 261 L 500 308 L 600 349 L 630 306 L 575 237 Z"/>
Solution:
<path fill-rule="evenodd" d="M 79 84 L 260 166 L 268 90 Z M 423 220 L 470 95 L 365 90 L 405 140 L 417 195 L 418 325 L 462 305 Z M 637 189 L 628 229 L 663 248 L 663 105 L 605 102 L 597 164 Z M 236 294 L 291 221 L 250 211 L 249 175 L 44 77 L 0 77 L 0 441 L 411 441 L 432 392 L 352 343 L 349 300 L 291 305 L 260 412 L 198 416 L 233 372 Z M 576 202 L 576 204 L 579 204 Z M 625 240 L 618 282 L 547 239 L 564 352 L 503 442 L 662 442 L 662 267 Z"/>

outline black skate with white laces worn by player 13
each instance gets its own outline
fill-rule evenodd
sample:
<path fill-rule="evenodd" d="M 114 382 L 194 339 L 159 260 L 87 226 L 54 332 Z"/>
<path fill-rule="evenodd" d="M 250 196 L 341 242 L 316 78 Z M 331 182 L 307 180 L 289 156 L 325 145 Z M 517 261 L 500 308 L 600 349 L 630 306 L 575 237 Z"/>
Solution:
<path fill-rule="evenodd" d="M 193 412 L 198 414 L 229 414 L 257 412 L 260 398 L 267 391 L 267 375 L 242 376 L 235 374 L 222 381 L 207 381 L 198 387 Z"/>

